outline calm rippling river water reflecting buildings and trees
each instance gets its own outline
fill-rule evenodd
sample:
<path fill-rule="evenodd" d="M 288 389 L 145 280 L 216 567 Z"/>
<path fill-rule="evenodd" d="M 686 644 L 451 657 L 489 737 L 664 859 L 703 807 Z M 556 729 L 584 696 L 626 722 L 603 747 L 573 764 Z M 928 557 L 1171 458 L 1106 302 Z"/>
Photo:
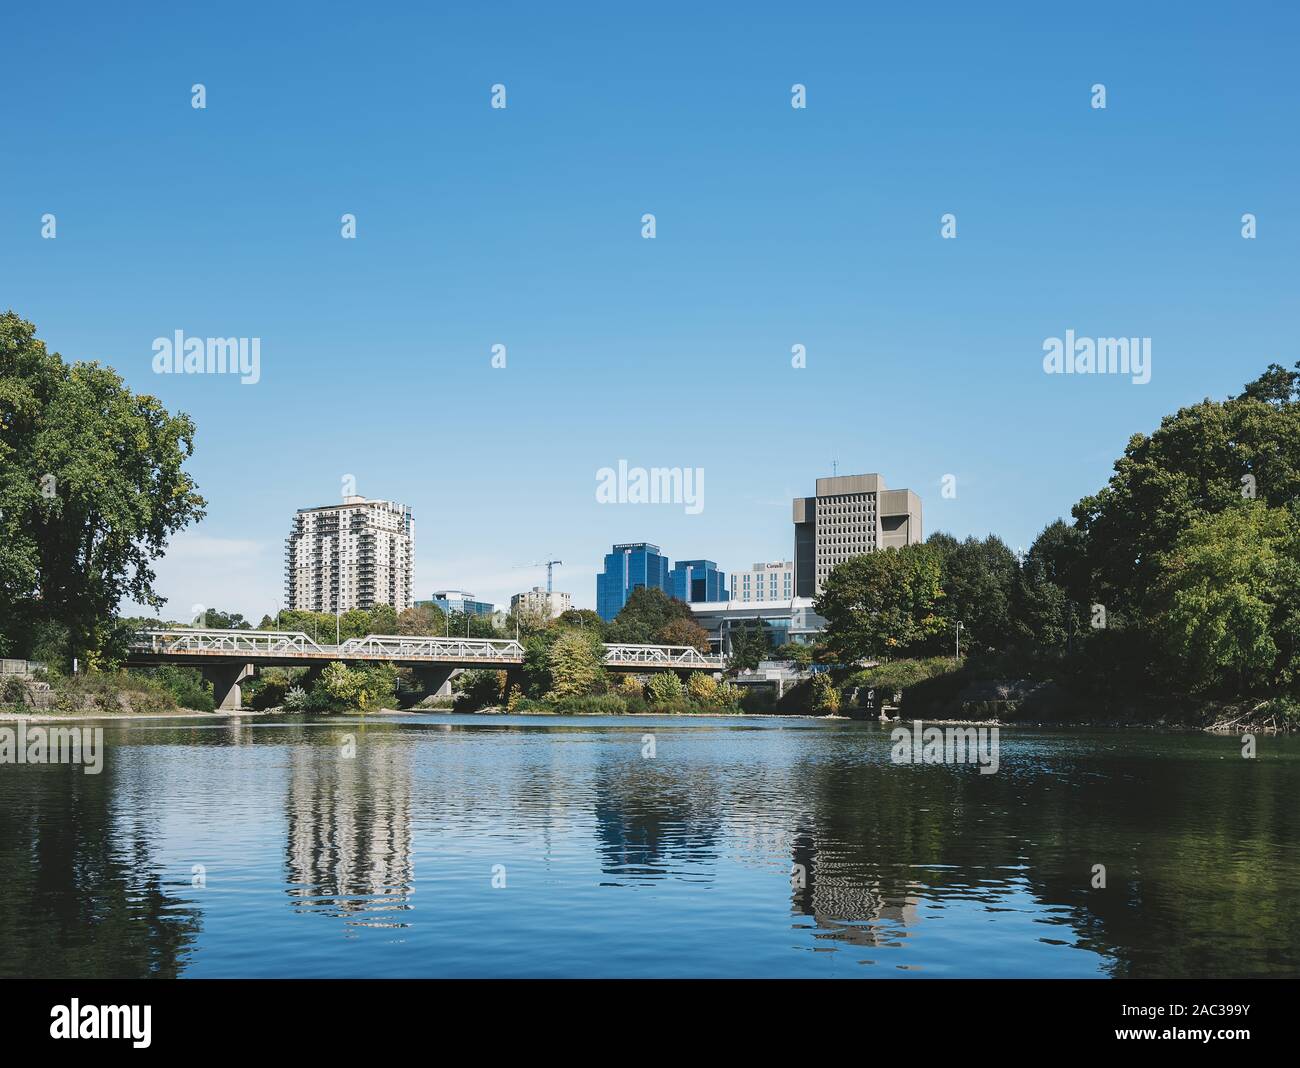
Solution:
<path fill-rule="evenodd" d="M 814 720 L 136 720 L 105 741 L 99 776 L 0 765 L 0 974 L 1300 971 L 1296 738 L 1245 760 L 1238 738 L 1004 730 L 984 776 Z"/>

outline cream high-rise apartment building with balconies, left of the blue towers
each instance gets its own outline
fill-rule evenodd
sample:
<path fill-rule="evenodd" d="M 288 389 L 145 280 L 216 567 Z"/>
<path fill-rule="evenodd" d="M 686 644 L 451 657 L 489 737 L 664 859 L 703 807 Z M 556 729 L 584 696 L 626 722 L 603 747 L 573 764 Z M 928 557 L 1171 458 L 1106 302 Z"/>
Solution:
<path fill-rule="evenodd" d="M 415 520 L 411 507 L 346 496 L 299 508 L 285 544 L 285 607 L 347 612 L 411 607 Z"/>

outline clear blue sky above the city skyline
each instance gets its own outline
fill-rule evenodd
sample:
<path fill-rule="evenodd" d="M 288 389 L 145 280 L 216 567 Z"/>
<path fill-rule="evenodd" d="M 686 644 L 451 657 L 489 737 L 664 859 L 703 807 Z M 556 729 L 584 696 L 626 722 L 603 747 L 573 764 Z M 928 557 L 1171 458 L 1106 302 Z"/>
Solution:
<path fill-rule="evenodd" d="M 0 304 L 195 418 L 166 612 L 273 612 L 346 474 L 413 507 L 420 598 L 788 557 L 833 460 L 1028 546 L 1300 359 L 1292 5 L 880 6 L 6 12 Z M 1067 329 L 1152 338 L 1150 382 L 1044 374 Z M 176 330 L 260 338 L 261 381 L 153 374 Z M 703 468 L 703 511 L 598 504 L 620 459 Z"/>

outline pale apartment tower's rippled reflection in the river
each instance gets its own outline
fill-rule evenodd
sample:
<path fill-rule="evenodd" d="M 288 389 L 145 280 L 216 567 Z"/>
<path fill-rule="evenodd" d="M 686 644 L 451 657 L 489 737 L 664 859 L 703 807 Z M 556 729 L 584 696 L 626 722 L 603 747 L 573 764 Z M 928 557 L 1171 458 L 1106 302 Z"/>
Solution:
<path fill-rule="evenodd" d="M 361 729 L 354 728 L 360 733 Z M 291 751 L 286 882 L 295 909 L 361 926 L 407 926 L 411 860 L 411 755 L 380 733 L 355 756 L 338 744 Z"/>

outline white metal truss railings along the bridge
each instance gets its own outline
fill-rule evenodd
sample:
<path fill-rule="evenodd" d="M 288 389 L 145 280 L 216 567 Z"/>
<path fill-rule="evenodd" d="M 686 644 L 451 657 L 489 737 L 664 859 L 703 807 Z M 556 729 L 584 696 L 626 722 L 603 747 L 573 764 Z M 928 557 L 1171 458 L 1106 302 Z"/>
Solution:
<path fill-rule="evenodd" d="M 135 635 L 131 650 L 153 655 L 247 655 L 303 656 L 318 659 L 338 656 L 344 660 L 451 660 L 456 663 L 523 664 L 524 647 L 502 638 L 424 638 L 411 634 L 367 634 L 348 638 L 337 646 L 322 646 L 302 631 L 289 630 L 214 630 L 174 628 L 146 630 Z M 607 667 L 628 668 L 694 668 L 722 670 L 722 656 L 702 654 L 692 646 L 607 644 Z"/>

